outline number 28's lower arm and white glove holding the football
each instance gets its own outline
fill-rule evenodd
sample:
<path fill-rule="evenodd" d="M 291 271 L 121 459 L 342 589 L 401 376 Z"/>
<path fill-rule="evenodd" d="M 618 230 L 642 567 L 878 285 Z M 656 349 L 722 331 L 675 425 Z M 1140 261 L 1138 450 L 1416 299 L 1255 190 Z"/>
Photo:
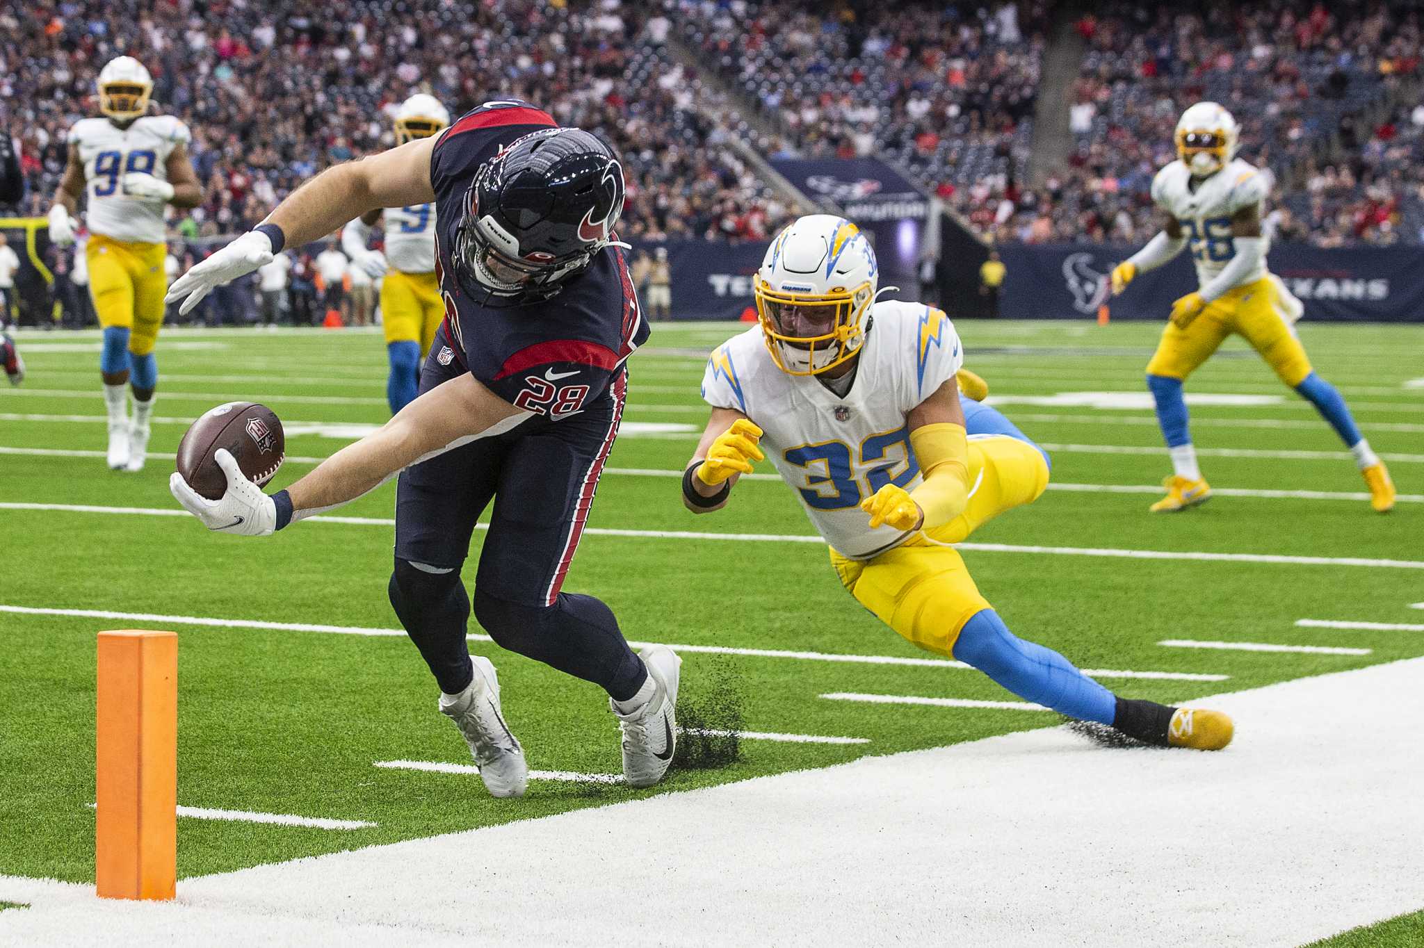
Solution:
<path fill-rule="evenodd" d="M 262 537 L 380 487 L 403 468 L 480 437 L 503 434 L 530 413 L 463 374 L 420 396 L 362 440 L 322 461 L 292 487 L 269 497 L 249 481 L 226 451 L 216 463 L 228 475 L 219 500 L 201 497 L 177 471 L 174 498 L 208 530 Z"/>

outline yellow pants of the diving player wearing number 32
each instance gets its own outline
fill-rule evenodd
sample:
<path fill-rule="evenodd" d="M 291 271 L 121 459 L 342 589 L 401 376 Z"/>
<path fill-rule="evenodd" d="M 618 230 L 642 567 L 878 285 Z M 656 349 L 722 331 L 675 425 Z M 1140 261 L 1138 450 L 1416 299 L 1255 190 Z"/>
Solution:
<path fill-rule="evenodd" d="M 970 502 L 964 512 L 873 559 L 834 549 L 830 564 L 853 596 L 921 649 L 954 655 L 960 629 L 991 608 L 954 547 L 1007 510 L 1032 502 L 1048 485 L 1038 448 L 1002 434 L 970 438 Z"/>

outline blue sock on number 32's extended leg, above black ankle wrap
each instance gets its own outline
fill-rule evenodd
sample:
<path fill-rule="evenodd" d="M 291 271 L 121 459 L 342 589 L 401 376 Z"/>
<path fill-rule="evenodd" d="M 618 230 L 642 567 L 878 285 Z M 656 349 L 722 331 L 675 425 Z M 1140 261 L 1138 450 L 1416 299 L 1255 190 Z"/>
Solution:
<path fill-rule="evenodd" d="M 964 623 L 954 658 L 973 665 L 1020 697 L 1059 715 L 1111 725 L 1118 699 L 1052 649 L 1017 638 L 993 609 Z"/>

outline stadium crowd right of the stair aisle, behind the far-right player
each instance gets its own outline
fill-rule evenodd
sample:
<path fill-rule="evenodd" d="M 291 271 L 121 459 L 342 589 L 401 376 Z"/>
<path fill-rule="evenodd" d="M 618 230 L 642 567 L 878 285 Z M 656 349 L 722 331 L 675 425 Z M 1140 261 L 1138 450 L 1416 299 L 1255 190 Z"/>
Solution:
<path fill-rule="evenodd" d="M 1027 242 L 1151 236 L 1159 215 L 1149 188 L 1175 157 L 1176 120 L 1210 98 L 1240 122 L 1242 158 L 1290 185 L 1277 195 L 1286 205 L 1273 221 L 1280 236 L 1321 246 L 1424 239 L 1424 175 L 1403 159 L 1418 147 L 1414 117 L 1424 121 L 1424 112 L 1361 131 L 1417 83 L 1415 13 L 1287 0 L 1121 3 L 1099 6 L 1077 30 L 1087 54 L 1067 167 L 1040 188 L 1004 175 L 956 191 L 951 202 L 983 232 Z"/>

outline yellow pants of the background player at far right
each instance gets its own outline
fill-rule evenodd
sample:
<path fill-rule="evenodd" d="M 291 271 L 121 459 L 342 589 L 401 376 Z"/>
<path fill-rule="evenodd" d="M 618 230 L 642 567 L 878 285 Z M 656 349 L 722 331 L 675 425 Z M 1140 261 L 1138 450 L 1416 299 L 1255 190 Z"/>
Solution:
<path fill-rule="evenodd" d="M 1243 336 L 1292 389 L 1310 374 L 1310 359 L 1269 275 L 1213 300 L 1186 329 L 1168 322 L 1148 374 L 1186 379 L 1232 333 Z"/>

